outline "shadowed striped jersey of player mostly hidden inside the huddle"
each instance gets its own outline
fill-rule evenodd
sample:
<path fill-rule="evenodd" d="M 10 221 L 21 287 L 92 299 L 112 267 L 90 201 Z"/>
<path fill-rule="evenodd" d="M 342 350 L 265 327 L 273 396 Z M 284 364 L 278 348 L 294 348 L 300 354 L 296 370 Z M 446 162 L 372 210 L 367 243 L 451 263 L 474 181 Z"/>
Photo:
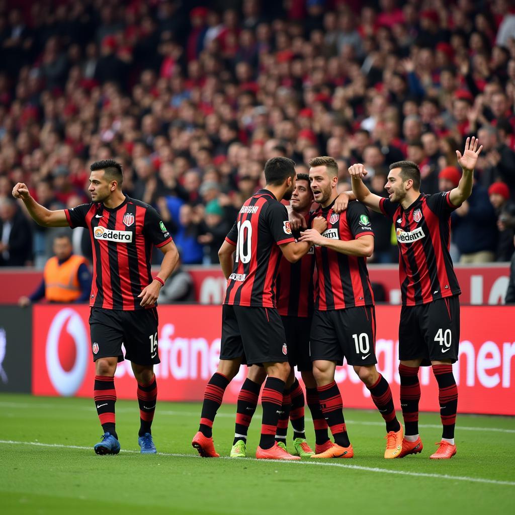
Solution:
<path fill-rule="evenodd" d="M 310 215 L 306 216 L 309 223 Z M 300 234 L 294 231 L 298 239 Z M 313 280 L 315 253 L 313 247 L 297 261 L 290 263 L 284 256 L 279 264 L 277 278 L 277 311 L 281 316 L 311 317 L 313 315 Z"/>

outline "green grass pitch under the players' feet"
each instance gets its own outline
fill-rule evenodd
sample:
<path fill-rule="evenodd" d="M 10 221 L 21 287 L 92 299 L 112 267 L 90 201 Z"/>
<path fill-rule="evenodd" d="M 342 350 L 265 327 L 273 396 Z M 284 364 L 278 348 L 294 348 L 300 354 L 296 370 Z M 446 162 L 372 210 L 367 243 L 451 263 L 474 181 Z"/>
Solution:
<path fill-rule="evenodd" d="M 116 412 L 122 449 L 139 450 L 137 403 L 118 401 Z M 92 445 L 101 431 L 93 401 L 88 399 L 3 394 L 0 413 L 2 514 L 78 515 L 95 510 L 141 514 L 145 510 L 321 515 L 360 510 L 363 515 L 469 515 L 509 513 L 515 502 L 512 418 L 460 416 L 458 454 L 452 460 L 434 461 L 428 456 L 440 437 L 439 416 L 421 414 L 423 453 L 385 460 L 379 415 L 372 410 L 349 409 L 346 422 L 354 459 L 285 463 L 199 458 L 191 447 L 199 404 L 158 404 L 153 435 L 163 454 L 157 456 L 135 452 L 96 456 Z M 251 451 L 258 443 L 260 418 L 258 410 L 249 433 Z M 229 454 L 233 424 L 234 406 L 222 406 L 214 430 L 222 456 Z M 308 441 L 313 442 L 310 421 L 306 427 Z M 9 440 L 24 443 L 7 443 Z"/>

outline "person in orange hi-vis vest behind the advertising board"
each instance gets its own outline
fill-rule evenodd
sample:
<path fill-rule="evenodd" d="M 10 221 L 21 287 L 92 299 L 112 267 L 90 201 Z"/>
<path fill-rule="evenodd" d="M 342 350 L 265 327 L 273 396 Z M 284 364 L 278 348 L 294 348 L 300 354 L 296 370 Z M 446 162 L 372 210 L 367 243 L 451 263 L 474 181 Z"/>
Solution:
<path fill-rule="evenodd" d="M 47 302 L 89 301 L 91 273 L 85 258 L 73 253 L 71 235 L 57 235 L 53 247 L 55 255 L 47 261 L 40 285 L 28 297 L 20 297 L 20 306 L 28 306 L 43 298 Z"/>

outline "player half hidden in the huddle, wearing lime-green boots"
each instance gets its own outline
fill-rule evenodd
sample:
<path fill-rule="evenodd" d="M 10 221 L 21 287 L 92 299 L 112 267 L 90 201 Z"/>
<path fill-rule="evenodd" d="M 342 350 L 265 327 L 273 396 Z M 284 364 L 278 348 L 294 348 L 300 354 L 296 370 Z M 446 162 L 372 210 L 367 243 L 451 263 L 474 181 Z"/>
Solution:
<path fill-rule="evenodd" d="M 297 182 L 290 205 L 297 214 L 310 219 L 310 208 L 313 203 L 313 193 L 310 178 L 307 174 L 297 174 Z M 300 234 L 296 234 L 296 239 Z M 316 435 L 316 452 L 321 452 L 322 446 L 329 441 L 328 426 L 325 422 L 320 403 L 316 382 L 313 377 L 313 365 L 310 358 L 310 328 L 313 316 L 313 274 L 315 260 L 313 249 L 305 254 L 297 263 L 290 263 L 284 256 L 279 265 L 277 278 L 277 310 L 281 315 L 286 344 L 288 346 L 288 361 L 291 372 L 283 392 L 283 405 L 279 416 L 276 441 L 286 450 L 286 433 L 288 419 L 294 429 L 295 454 L 301 457 L 315 454 L 306 441 L 304 429 L 304 392 L 295 377 L 294 366 L 302 374 L 306 385 L 307 405 L 311 410 Z M 258 405 L 261 385 L 266 379 L 263 367 L 252 365 L 247 378 L 238 395 L 236 411 L 236 427 L 231 457 L 246 456 L 247 431 Z"/>

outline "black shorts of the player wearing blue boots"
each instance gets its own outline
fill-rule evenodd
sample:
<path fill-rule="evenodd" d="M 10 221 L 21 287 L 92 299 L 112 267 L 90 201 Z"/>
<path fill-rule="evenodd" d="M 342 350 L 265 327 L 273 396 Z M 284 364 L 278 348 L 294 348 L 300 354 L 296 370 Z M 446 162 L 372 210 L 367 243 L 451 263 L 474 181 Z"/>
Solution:
<path fill-rule="evenodd" d="M 115 311 L 92 307 L 90 334 L 93 361 L 101 357 L 125 358 L 136 365 L 157 365 L 158 310 Z"/>

